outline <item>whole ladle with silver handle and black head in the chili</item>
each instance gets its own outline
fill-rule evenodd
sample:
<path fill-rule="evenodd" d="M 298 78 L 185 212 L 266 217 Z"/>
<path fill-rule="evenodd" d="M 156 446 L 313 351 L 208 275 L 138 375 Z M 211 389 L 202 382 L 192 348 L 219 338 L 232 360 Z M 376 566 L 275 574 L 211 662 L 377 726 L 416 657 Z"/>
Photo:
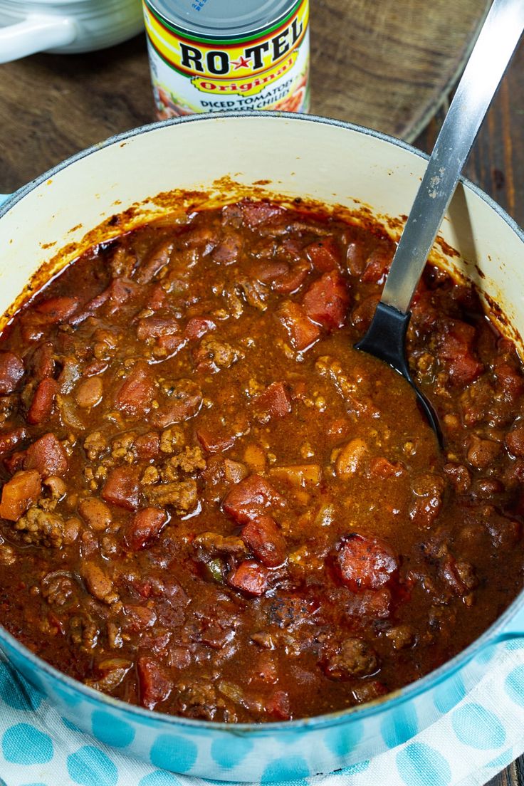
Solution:
<path fill-rule="evenodd" d="M 460 171 L 524 29 L 524 0 L 494 0 L 449 106 L 398 243 L 382 297 L 356 348 L 385 360 L 414 388 L 439 443 L 433 406 L 416 386 L 405 356 L 409 303 L 442 224 Z"/>

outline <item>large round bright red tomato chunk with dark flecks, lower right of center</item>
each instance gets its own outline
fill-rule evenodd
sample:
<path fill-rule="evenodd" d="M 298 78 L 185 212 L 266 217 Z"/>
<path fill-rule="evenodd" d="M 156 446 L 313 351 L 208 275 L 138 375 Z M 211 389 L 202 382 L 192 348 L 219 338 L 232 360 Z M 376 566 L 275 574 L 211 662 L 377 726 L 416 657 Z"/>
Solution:
<path fill-rule="evenodd" d="M 362 592 L 390 582 L 398 572 L 398 560 L 387 543 L 351 533 L 336 546 L 335 568 L 346 587 Z"/>

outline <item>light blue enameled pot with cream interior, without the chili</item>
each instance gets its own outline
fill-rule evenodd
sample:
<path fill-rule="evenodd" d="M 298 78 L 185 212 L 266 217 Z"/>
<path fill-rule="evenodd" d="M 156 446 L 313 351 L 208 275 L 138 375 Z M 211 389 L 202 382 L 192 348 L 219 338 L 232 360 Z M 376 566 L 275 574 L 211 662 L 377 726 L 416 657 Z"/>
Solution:
<path fill-rule="evenodd" d="M 425 167 L 401 141 L 313 116 L 259 112 L 189 116 L 120 134 L 73 156 L 0 208 L 0 313 L 43 263 L 133 204 L 130 222 L 162 210 L 148 197 L 171 189 L 244 185 L 310 196 L 375 215 L 407 215 Z M 127 220 L 127 219 L 125 219 Z M 111 228 L 108 234 L 125 226 Z M 392 224 L 394 226 L 394 224 Z M 488 196 L 460 182 L 440 259 L 473 278 L 524 335 L 524 235 Z M 52 244 L 52 245 L 48 245 Z M 443 248 L 447 248 L 443 245 Z M 226 725 L 131 707 L 65 677 L 0 629 L 0 647 L 60 713 L 107 744 L 178 773 L 222 780 L 283 780 L 327 773 L 408 740 L 449 711 L 489 669 L 493 645 L 524 637 L 524 593 L 467 650 L 385 700 L 320 718 Z"/>

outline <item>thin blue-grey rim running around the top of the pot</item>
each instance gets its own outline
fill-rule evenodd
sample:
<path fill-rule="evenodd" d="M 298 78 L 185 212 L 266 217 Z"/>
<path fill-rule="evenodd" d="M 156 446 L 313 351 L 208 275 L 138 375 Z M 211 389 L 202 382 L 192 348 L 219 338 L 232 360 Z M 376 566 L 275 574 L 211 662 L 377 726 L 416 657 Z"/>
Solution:
<path fill-rule="evenodd" d="M 262 119 L 262 121 L 271 118 L 287 119 L 298 123 L 321 123 L 322 125 L 344 128 L 346 130 L 355 131 L 358 134 L 371 136 L 379 139 L 379 141 L 385 141 L 395 145 L 396 147 L 410 152 L 419 158 L 425 160 L 429 159 L 429 156 L 427 156 L 426 153 L 416 149 L 408 142 L 392 137 L 389 134 L 383 134 L 381 131 L 358 126 L 356 123 L 346 123 L 343 120 L 336 120 L 319 115 L 305 115 L 300 114 L 299 112 L 269 112 L 267 110 L 264 110 L 263 112 L 260 110 L 251 110 L 245 112 L 207 112 L 198 115 L 170 118 L 126 130 L 120 134 L 114 134 L 112 137 L 109 137 L 95 145 L 91 145 L 89 148 L 83 149 L 75 153 L 73 156 L 69 156 L 67 159 L 61 161 L 56 166 L 46 171 L 44 174 L 38 175 L 37 178 L 31 180 L 31 182 L 28 182 L 26 185 L 23 185 L 15 193 L 9 196 L 9 198 L 5 200 L 2 205 L 0 205 L 0 219 L 2 219 L 2 216 L 5 215 L 11 208 L 18 204 L 20 200 L 24 199 L 24 196 L 27 196 L 27 194 L 31 193 L 31 191 L 37 188 L 38 185 L 42 185 L 42 183 L 46 182 L 50 178 L 53 178 L 56 174 L 66 169 L 71 164 L 82 160 L 86 156 L 90 156 L 92 153 L 96 153 L 98 150 L 110 147 L 111 145 L 115 145 L 117 143 L 122 143 L 127 139 L 134 138 L 141 134 L 147 134 L 149 131 L 157 130 L 163 127 L 178 126 L 179 124 L 183 123 L 209 123 L 228 118 L 243 120 L 256 118 L 258 120 Z M 475 183 L 471 182 L 462 175 L 460 176 L 459 182 L 472 193 L 474 193 L 475 196 L 478 196 L 483 202 L 485 202 L 489 208 L 495 211 L 500 219 L 508 224 L 509 228 L 517 235 L 517 237 L 519 237 L 519 240 L 524 245 L 524 231 L 520 229 L 515 220 L 512 219 L 511 216 L 508 215 L 508 213 L 504 211 L 504 209 L 501 208 L 500 205 L 497 204 L 497 202 L 495 202 L 491 196 L 486 194 L 484 191 L 482 191 L 482 189 L 478 188 Z M 332 725 L 340 725 L 349 719 L 363 720 L 364 718 L 368 718 L 374 714 L 382 712 L 386 708 L 390 711 L 394 710 L 394 708 L 405 703 L 405 701 L 414 699 L 421 693 L 436 687 L 436 685 L 438 685 L 445 678 L 455 674 L 456 671 L 460 669 L 460 667 L 464 666 L 469 660 L 478 654 L 478 652 L 481 652 L 482 649 L 490 645 L 497 644 L 497 641 L 499 640 L 497 634 L 501 634 L 503 632 L 509 621 L 516 615 L 517 612 L 519 612 L 519 610 L 522 610 L 522 608 L 524 608 L 524 589 L 521 591 L 521 593 L 519 593 L 514 601 L 511 602 L 508 608 L 506 608 L 505 611 L 499 617 L 497 617 L 495 622 L 489 626 L 489 628 L 487 628 L 481 636 L 476 638 L 475 641 L 472 641 L 471 644 L 467 646 L 467 648 L 459 652 L 458 655 L 446 661 L 442 664 L 442 666 L 431 671 L 429 674 L 425 674 L 418 680 L 409 683 L 409 685 L 406 685 L 404 688 L 387 694 L 387 696 L 383 698 L 366 703 L 362 706 L 357 705 L 356 707 L 348 707 L 344 710 L 316 715 L 311 718 L 299 718 L 297 720 L 279 722 L 225 723 L 196 720 L 194 718 L 185 718 L 179 715 L 170 715 L 164 714 L 162 712 L 147 710 L 144 707 L 138 707 L 137 705 L 129 704 L 123 700 L 116 699 L 113 696 L 108 696 L 105 693 L 90 688 L 88 685 L 84 685 L 82 682 L 69 677 L 68 674 L 64 674 L 55 667 L 51 666 L 45 660 L 36 656 L 35 653 L 26 648 L 12 634 L 9 634 L 9 632 L 1 625 L 0 645 L 2 641 L 5 641 L 11 648 L 15 649 L 21 657 L 29 661 L 29 663 L 31 663 L 31 665 L 35 667 L 37 671 L 42 670 L 46 672 L 46 674 L 48 674 L 50 677 L 66 685 L 68 689 L 72 689 L 75 692 L 83 694 L 87 700 L 105 703 L 109 707 L 118 709 L 125 714 L 136 715 L 138 720 L 145 721 L 147 725 L 152 725 L 152 722 L 156 722 L 171 725 L 175 728 L 177 725 L 189 726 L 189 728 L 195 730 L 201 729 L 210 733 L 216 730 L 220 732 L 231 733 L 234 736 L 245 736 L 246 733 L 255 733 L 259 736 L 267 736 L 274 732 L 296 732 L 300 729 L 306 731 L 310 727 L 323 728 Z"/>

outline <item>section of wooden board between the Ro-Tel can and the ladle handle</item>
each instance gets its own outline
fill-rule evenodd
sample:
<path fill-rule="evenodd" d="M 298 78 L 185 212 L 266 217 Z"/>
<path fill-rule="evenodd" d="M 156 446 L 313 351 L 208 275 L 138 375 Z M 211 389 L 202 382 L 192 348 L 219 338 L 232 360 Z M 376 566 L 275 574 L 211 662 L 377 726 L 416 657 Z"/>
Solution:
<path fill-rule="evenodd" d="M 415 138 L 460 72 L 489 5 L 313 0 L 312 111 Z"/>

